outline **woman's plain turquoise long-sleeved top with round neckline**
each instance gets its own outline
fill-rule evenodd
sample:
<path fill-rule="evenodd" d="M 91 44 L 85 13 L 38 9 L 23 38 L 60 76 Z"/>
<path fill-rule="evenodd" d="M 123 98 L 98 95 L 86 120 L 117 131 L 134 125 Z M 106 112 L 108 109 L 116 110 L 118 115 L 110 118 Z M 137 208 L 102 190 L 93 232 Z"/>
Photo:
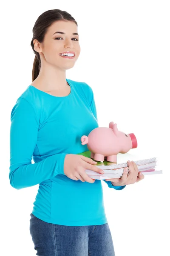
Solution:
<path fill-rule="evenodd" d="M 98 127 L 91 87 L 66 81 L 71 87 L 68 96 L 52 96 L 29 85 L 12 108 L 10 184 L 15 189 L 39 184 L 32 213 L 42 221 L 66 226 L 105 224 L 102 180 L 82 182 L 64 174 L 65 155 L 88 151 L 80 139 Z M 109 188 L 125 188 L 104 181 Z"/>

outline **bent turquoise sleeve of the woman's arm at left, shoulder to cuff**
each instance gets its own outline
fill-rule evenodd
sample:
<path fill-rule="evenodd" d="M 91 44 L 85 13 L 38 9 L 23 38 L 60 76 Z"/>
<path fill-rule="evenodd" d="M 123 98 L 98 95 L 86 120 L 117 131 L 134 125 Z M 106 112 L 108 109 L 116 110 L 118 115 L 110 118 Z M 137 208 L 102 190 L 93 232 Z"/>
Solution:
<path fill-rule="evenodd" d="M 66 154 L 55 154 L 31 163 L 37 145 L 39 119 L 26 99 L 18 98 L 11 111 L 9 180 L 15 189 L 34 186 L 64 174 Z"/>

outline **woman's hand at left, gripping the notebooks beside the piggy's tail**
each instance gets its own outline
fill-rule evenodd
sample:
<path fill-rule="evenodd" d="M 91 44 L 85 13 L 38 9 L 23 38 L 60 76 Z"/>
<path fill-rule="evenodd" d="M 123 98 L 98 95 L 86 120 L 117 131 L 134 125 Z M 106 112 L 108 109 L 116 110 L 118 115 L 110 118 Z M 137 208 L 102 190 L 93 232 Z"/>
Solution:
<path fill-rule="evenodd" d="M 103 174 L 102 169 L 94 166 L 95 164 L 97 164 L 97 162 L 91 158 L 77 154 L 66 154 L 64 160 L 64 174 L 72 180 L 81 180 L 82 182 L 87 181 L 89 183 L 94 183 L 95 179 L 91 179 L 85 170 L 89 169 Z"/>

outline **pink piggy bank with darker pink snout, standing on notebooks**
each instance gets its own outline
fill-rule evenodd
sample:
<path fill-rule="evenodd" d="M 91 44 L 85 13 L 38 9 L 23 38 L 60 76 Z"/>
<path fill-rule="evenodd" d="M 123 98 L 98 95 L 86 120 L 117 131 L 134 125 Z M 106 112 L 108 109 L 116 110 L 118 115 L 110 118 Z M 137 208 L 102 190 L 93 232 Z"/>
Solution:
<path fill-rule="evenodd" d="M 97 127 L 88 136 L 81 137 L 82 145 L 87 144 L 91 158 L 96 161 L 117 162 L 118 153 L 127 153 L 131 148 L 137 148 L 137 140 L 133 133 L 125 134 L 119 131 L 117 124 L 109 123 L 108 127 Z"/>

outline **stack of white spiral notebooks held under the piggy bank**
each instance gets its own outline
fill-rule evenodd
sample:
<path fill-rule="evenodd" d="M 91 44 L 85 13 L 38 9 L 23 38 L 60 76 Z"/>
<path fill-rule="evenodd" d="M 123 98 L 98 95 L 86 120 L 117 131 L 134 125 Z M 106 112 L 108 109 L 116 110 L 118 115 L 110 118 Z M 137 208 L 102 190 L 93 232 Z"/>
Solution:
<path fill-rule="evenodd" d="M 126 154 L 127 156 L 127 154 Z M 142 172 L 144 175 L 153 175 L 153 174 L 162 174 L 162 170 L 158 170 L 158 158 L 152 157 L 142 160 L 135 160 L 136 156 L 132 156 L 133 161 L 136 163 L 139 172 Z M 119 158 L 119 157 L 117 157 Z M 125 158 L 125 157 L 124 157 Z M 130 160 L 129 154 L 127 160 Z M 124 159 L 125 160 L 125 159 Z M 104 174 L 99 174 L 92 170 L 86 169 L 85 172 L 87 175 L 96 180 L 105 180 L 111 178 L 120 178 L 123 175 L 124 168 L 128 167 L 127 162 L 124 163 L 109 163 L 109 162 L 98 162 L 97 167 L 104 171 Z"/>

